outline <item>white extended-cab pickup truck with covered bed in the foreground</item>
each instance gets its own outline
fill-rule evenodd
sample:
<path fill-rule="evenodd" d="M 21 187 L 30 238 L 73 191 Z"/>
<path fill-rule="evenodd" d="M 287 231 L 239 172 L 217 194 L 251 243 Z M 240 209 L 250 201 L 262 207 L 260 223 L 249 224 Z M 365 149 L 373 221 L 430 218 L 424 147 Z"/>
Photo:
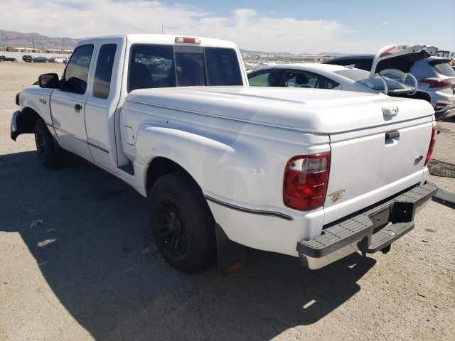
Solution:
<path fill-rule="evenodd" d="M 62 77 L 16 96 L 11 139 L 35 134 L 44 166 L 71 153 L 149 198 L 157 247 L 223 274 L 245 247 L 319 269 L 387 252 L 414 227 L 436 138 L 418 99 L 247 87 L 233 43 L 132 35 L 80 41 Z M 145 207 L 144 207 L 145 209 Z"/>

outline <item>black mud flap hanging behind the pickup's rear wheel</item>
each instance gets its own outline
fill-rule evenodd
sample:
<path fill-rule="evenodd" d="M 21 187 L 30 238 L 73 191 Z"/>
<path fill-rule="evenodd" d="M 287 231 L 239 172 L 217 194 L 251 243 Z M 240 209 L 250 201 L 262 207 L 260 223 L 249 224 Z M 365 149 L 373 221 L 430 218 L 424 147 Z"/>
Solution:
<path fill-rule="evenodd" d="M 245 247 L 232 242 L 218 224 L 215 224 L 215 233 L 220 274 L 228 275 L 240 270 L 247 258 Z"/>

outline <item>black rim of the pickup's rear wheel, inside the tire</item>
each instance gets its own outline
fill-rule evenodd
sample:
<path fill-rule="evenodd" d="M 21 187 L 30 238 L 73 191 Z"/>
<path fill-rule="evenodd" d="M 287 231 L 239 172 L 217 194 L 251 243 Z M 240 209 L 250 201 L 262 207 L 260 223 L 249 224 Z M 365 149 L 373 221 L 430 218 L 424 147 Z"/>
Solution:
<path fill-rule="evenodd" d="M 181 256 L 188 247 L 188 231 L 173 200 L 164 197 L 158 207 L 158 234 L 161 244 L 172 256 Z"/>

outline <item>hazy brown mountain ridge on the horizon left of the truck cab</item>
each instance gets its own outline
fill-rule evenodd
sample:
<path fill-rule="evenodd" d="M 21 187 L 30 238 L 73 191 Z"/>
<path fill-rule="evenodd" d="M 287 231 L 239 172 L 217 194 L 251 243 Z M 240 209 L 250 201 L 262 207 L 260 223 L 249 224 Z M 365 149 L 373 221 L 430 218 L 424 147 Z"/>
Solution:
<path fill-rule="evenodd" d="M 21 33 L 0 30 L 0 46 L 11 48 L 65 48 L 73 49 L 79 39 L 55 38 L 39 33 Z"/>

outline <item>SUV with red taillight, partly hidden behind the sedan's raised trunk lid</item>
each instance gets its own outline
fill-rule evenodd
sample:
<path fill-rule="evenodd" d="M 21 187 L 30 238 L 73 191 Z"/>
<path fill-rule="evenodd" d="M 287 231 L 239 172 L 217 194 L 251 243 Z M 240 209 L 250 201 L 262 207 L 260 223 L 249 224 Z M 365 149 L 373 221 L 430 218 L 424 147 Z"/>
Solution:
<path fill-rule="evenodd" d="M 351 55 L 333 58 L 324 64 L 353 65 L 370 71 L 374 57 Z M 455 71 L 450 70 L 449 62 L 450 58 L 430 56 L 413 63 L 410 67 L 410 73 L 418 80 L 418 90 L 422 94 L 420 98 L 432 104 L 437 119 L 455 116 Z"/>

